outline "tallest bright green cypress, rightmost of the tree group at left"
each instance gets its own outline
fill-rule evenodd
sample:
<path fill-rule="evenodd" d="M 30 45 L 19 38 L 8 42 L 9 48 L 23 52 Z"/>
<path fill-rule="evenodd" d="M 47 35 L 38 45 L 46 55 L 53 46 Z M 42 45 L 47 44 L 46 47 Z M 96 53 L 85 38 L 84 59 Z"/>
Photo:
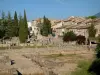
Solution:
<path fill-rule="evenodd" d="M 21 43 L 25 43 L 28 38 L 28 25 L 27 25 L 27 18 L 26 12 L 24 10 L 24 18 L 20 16 L 19 21 L 19 39 Z"/>

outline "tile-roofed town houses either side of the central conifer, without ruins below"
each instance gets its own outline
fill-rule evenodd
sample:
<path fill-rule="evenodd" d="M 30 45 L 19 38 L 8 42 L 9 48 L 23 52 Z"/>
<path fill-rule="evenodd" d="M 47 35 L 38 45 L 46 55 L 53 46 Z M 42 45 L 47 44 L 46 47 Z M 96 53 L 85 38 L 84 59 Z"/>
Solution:
<path fill-rule="evenodd" d="M 39 18 L 36 20 L 32 20 L 31 22 L 28 22 L 28 28 L 30 30 L 30 35 L 34 34 L 36 36 L 37 40 L 43 40 L 44 37 L 40 34 L 40 28 L 38 26 L 39 23 L 43 22 L 43 18 Z M 52 20 L 51 22 L 51 28 L 52 33 L 54 33 L 54 37 L 56 39 L 61 39 L 61 37 L 64 35 L 63 33 L 67 33 L 69 31 L 73 31 L 76 35 L 82 35 L 85 36 L 86 39 L 89 38 L 88 34 L 88 28 L 91 26 L 92 22 L 95 23 L 95 28 L 97 30 L 95 37 L 100 35 L 100 18 L 91 19 L 86 17 L 74 17 L 71 16 L 64 20 Z M 47 37 L 45 37 L 47 38 Z M 30 41 L 31 42 L 31 41 Z"/>

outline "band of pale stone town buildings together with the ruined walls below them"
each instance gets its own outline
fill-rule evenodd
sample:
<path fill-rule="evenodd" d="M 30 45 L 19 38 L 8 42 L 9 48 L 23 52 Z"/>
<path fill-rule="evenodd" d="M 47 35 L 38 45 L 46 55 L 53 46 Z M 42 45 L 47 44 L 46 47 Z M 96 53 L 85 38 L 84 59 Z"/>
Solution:
<path fill-rule="evenodd" d="M 54 20 L 49 19 L 52 29 L 52 34 L 48 36 L 41 35 L 41 26 L 44 22 L 43 18 L 38 18 L 35 20 L 32 20 L 30 22 L 27 22 L 27 28 L 28 28 L 28 38 L 27 43 L 29 45 L 39 45 L 39 46 L 48 46 L 48 45 L 59 45 L 63 42 L 63 36 L 67 32 L 74 32 L 76 36 L 84 36 L 85 37 L 85 45 L 89 44 L 91 45 L 91 42 L 97 43 L 97 40 L 89 39 L 89 27 L 94 24 L 94 27 L 96 29 L 95 37 L 98 37 L 100 35 L 100 18 L 86 18 L 86 17 L 75 17 L 71 16 L 69 18 L 63 19 L 63 20 Z M 90 42 L 89 42 L 90 41 Z M 67 42 L 66 42 L 67 43 Z M 10 40 L 5 39 L 1 42 L 0 46 L 10 47 L 12 44 L 15 44 L 16 46 L 24 46 L 25 44 L 21 43 L 19 40 L 19 37 L 12 37 Z M 74 42 L 67 43 L 67 44 L 77 44 Z"/>

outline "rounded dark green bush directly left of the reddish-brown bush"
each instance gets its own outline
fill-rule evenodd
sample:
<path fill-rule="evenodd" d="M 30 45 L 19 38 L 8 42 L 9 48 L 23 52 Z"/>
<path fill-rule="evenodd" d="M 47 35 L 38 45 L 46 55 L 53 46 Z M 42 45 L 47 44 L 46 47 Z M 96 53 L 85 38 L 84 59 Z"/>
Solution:
<path fill-rule="evenodd" d="M 76 34 L 74 34 L 73 31 L 67 32 L 63 36 L 64 42 L 75 41 L 75 40 L 76 40 Z"/>

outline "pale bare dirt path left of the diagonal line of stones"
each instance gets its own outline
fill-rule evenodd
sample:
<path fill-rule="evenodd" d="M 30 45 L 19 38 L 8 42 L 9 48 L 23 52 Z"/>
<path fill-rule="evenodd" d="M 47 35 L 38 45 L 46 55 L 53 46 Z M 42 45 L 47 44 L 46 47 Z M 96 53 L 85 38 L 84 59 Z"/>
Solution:
<path fill-rule="evenodd" d="M 12 65 L 13 68 L 16 68 L 22 74 L 41 74 L 43 73 L 42 69 L 32 62 L 31 60 L 23 57 L 21 54 L 9 53 L 9 58 L 14 60 L 15 64 Z"/>

